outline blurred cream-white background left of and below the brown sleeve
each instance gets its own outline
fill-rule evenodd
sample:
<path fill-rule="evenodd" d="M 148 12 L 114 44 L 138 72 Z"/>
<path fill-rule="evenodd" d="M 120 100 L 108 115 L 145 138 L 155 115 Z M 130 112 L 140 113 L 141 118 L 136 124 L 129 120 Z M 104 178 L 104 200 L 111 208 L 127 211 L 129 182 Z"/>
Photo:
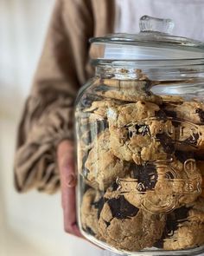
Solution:
<path fill-rule="evenodd" d="M 41 54 L 54 0 L 0 0 L 0 255 L 103 252 L 63 232 L 60 194 L 16 194 L 16 125 Z"/>

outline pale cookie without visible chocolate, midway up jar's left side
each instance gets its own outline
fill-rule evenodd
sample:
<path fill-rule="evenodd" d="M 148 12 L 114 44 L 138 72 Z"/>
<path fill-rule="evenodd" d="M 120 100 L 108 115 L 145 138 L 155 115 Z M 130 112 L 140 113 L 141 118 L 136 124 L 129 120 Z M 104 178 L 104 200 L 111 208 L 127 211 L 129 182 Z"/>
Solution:
<path fill-rule="evenodd" d="M 85 163 L 86 181 L 92 187 L 105 190 L 117 177 L 124 177 L 129 164 L 118 159 L 109 148 L 110 133 L 105 129 L 93 142 Z"/>

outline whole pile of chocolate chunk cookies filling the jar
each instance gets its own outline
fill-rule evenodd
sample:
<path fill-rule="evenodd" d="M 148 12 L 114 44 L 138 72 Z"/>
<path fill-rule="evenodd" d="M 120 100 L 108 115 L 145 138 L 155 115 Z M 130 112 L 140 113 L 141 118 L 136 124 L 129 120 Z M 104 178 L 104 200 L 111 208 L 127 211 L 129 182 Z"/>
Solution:
<path fill-rule="evenodd" d="M 204 245 L 204 105 L 98 78 L 76 107 L 80 227 L 118 249 Z"/>

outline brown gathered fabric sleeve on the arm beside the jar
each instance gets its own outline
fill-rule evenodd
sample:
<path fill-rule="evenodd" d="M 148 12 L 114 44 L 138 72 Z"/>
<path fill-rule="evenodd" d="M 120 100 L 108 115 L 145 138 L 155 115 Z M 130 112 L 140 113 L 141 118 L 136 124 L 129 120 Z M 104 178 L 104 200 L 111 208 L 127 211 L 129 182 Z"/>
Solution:
<path fill-rule="evenodd" d="M 56 2 L 18 128 L 14 169 L 19 192 L 35 187 L 53 194 L 60 186 L 56 147 L 73 139 L 73 104 L 92 72 L 88 63 L 92 23 L 91 1 Z"/>

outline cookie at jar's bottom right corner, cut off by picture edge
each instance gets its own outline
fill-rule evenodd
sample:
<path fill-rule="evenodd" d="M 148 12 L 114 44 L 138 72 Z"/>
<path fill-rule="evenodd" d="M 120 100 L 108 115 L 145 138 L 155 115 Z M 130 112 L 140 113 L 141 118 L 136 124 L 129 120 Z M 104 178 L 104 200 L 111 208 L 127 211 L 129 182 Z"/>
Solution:
<path fill-rule="evenodd" d="M 204 199 L 167 215 L 162 239 L 157 245 L 164 250 L 181 250 L 204 245 Z"/>

